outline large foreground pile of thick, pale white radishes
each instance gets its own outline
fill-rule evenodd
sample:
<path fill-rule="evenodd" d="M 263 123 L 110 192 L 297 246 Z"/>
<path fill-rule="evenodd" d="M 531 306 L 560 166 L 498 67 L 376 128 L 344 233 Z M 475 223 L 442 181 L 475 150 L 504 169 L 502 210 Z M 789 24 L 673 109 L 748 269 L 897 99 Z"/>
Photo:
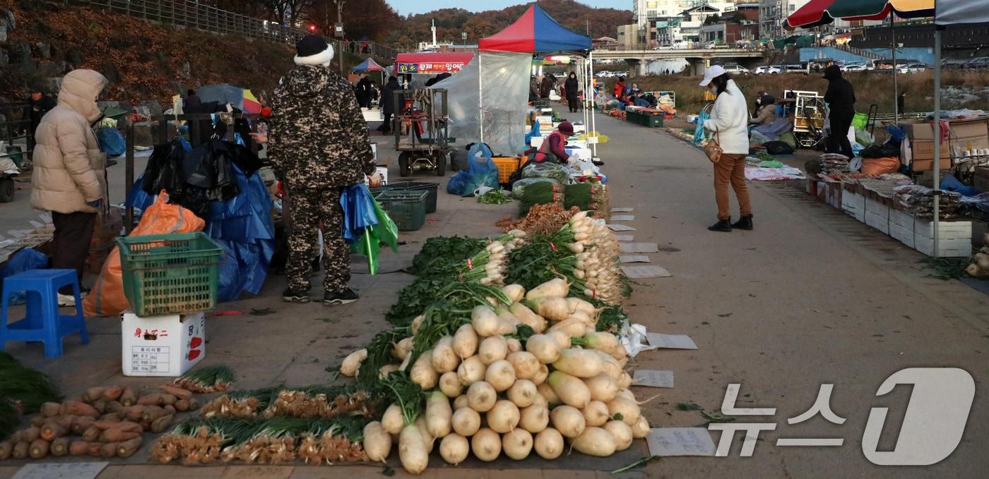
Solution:
<path fill-rule="evenodd" d="M 594 231 L 579 224 L 581 231 L 590 228 L 584 234 Z M 399 435 L 402 464 L 417 474 L 435 442 L 440 456 L 457 464 L 469 453 L 483 461 L 502 454 L 521 460 L 532 452 L 554 459 L 566 441 L 585 454 L 607 456 L 644 438 L 650 427 L 628 390 L 624 347 L 594 330 L 598 310 L 567 298 L 569 289 L 564 279 L 528 292 L 509 284 L 502 291 L 514 301 L 510 308 L 474 308 L 469 324 L 410 365 L 412 381 L 427 391 L 424 413 L 405 425 L 398 406 L 389 407 L 380 424 L 365 430 L 365 441 L 374 441 L 366 444 L 369 455 L 387 457 L 389 435 Z M 524 344 L 505 337 L 518 324 L 536 332 Z M 396 359 L 407 361 L 409 351 L 410 344 L 398 343 Z M 356 363 L 348 371 L 361 359 L 348 357 Z"/>

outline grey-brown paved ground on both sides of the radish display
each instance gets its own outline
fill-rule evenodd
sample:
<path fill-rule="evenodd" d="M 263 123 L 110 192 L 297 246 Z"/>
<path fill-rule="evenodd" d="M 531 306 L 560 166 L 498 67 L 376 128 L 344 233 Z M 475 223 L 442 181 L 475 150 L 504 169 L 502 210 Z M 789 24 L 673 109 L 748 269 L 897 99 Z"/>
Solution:
<path fill-rule="evenodd" d="M 635 241 L 656 242 L 661 253 L 653 263 L 673 278 L 638 280 L 627 309 L 650 331 L 688 334 L 697 351 L 643 353 L 636 365 L 668 369 L 675 387 L 644 406 L 654 427 L 703 424 L 699 412 L 678 411 L 678 403 L 720 409 L 730 383 L 741 383 L 739 406 L 777 408 L 773 417 L 738 422 L 776 423 L 761 434 L 755 454 L 739 458 L 740 439 L 732 457 L 674 457 L 650 464 L 629 477 L 984 477 L 989 420 L 984 396 L 976 394 L 972 415 L 957 450 L 926 468 L 879 467 L 861 451 L 869 408 L 888 406 L 889 423 L 899 424 L 909 387 L 882 398 L 876 389 L 893 372 L 911 366 L 953 366 L 968 370 L 982 387 L 989 352 L 986 296 L 956 281 L 930 279 L 920 255 L 870 230 L 830 206 L 809 200 L 780 184 L 753 185 L 754 232 L 711 233 L 714 200 L 710 165 L 703 153 L 658 130 L 598 119 L 610 142 L 600 147 L 607 161 L 612 206 L 635 208 Z M 383 155 L 387 156 L 387 154 Z M 393 175 L 397 178 L 396 168 Z M 432 177 L 435 178 L 435 177 Z M 417 181 L 431 178 L 416 177 Z M 410 278 L 395 271 L 429 236 L 483 235 L 512 205 L 480 205 L 440 194 L 439 211 L 423 230 L 405 235 L 409 244 L 398 257 L 383 257 L 377 277 L 356 274 L 362 294 L 354 305 L 325 309 L 315 304 L 285 305 L 277 294 L 283 279 L 269 279 L 257 298 L 244 298 L 220 309 L 250 311 L 271 307 L 272 316 L 225 316 L 210 320 L 206 362 L 224 362 L 237 371 L 237 386 L 261 387 L 278 382 L 309 384 L 327 379 L 323 368 L 365 343 L 385 327 L 383 313 Z M 355 271 L 360 267 L 355 266 Z M 66 356 L 45 360 L 40 348 L 17 345 L 12 353 L 42 367 L 73 394 L 92 384 L 126 381 L 153 385 L 153 378 L 120 375 L 119 320 L 90 321 L 92 344 L 81 348 L 66 340 Z M 821 417 L 789 426 L 787 418 L 814 403 L 822 383 L 834 384 L 831 406 L 847 418 L 835 426 Z M 645 398 L 651 389 L 638 389 Z M 950 398 L 942 399 L 946 404 Z M 896 427 L 887 427 L 881 444 L 891 448 Z M 717 441 L 718 436 L 712 435 Z M 778 438 L 841 438 L 841 447 L 777 446 Z M 640 444 L 641 445 L 641 444 Z M 115 465 L 101 477 L 221 477 L 241 475 L 244 468 L 178 469 L 141 466 L 145 454 Z M 511 470 L 440 468 L 436 477 L 604 477 L 588 469 L 602 463 L 557 461 L 552 467 L 583 470 Z M 523 464 L 519 464 L 524 467 Z M 0 467 L 0 477 L 16 468 Z M 252 469 L 254 470 L 254 469 Z M 258 477 L 330 477 L 377 474 L 377 468 L 272 467 Z M 400 472 L 400 475 L 401 472 Z"/>

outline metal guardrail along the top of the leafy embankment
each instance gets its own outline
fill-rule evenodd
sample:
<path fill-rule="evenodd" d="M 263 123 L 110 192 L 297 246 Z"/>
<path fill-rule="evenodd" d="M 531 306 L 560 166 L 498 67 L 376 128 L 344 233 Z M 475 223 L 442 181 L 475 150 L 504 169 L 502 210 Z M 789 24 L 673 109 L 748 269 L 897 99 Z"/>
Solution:
<path fill-rule="evenodd" d="M 98 8 L 148 22 L 197 29 L 204 32 L 295 44 L 309 32 L 248 17 L 192 0 L 49 0 L 63 5 Z M 398 50 L 374 41 L 327 38 L 337 51 L 367 54 L 394 60 Z"/>

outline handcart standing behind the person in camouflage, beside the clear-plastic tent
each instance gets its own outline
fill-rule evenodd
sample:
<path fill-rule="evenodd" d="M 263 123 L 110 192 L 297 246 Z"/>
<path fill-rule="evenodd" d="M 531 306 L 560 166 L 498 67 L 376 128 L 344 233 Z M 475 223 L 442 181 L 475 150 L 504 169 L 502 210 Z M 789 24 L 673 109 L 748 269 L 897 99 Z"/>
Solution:
<path fill-rule="evenodd" d="M 443 89 L 398 90 L 395 105 L 395 149 L 399 153 L 399 175 L 413 171 L 435 171 L 443 176 L 450 154 L 447 91 Z"/>

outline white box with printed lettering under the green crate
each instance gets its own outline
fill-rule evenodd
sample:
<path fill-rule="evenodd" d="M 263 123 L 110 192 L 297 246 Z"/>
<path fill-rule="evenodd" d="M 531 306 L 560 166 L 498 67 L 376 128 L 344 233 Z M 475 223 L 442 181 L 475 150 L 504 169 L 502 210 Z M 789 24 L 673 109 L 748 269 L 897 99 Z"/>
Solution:
<path fill-rule="evenodd" d="M 126 312 L 121 337 L 124 375 L 178 376 L 206 357 L 206 315 Z"/>

